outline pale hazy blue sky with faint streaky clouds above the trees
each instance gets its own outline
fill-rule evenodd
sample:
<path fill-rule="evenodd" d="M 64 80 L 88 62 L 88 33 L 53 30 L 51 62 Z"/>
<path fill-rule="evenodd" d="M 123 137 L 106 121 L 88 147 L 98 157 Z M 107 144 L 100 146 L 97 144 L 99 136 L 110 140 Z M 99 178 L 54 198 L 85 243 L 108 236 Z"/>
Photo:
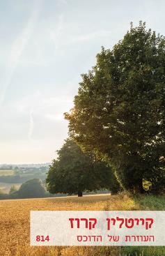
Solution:
<path fill-rule="evenodd" d="M 0 0 L 0 163 L 56 158 L 81 73 L 130 22 L 165 35 L 164 9 L 164 0 Z"/>

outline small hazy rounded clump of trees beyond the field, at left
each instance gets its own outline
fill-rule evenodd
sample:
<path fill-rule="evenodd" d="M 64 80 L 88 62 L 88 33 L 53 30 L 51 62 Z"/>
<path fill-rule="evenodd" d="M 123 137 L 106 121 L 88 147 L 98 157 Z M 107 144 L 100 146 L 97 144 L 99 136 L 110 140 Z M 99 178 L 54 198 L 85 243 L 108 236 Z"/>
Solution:
<path fill-rule="evenodd" d="M 45 197 L 46 191 L 40 179 L 30 179 L 20 186 L 17 192 L 12 193 L 13 198 Z"/>

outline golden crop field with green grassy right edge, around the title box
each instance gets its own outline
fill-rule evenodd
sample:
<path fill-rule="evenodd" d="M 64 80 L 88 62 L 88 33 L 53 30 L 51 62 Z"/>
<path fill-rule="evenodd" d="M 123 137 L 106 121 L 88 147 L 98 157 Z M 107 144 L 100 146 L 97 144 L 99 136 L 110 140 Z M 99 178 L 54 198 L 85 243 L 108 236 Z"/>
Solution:
<path fill-rule="evenodd" d="M 17 199 L 0 201 L 1 256 L 150 256 L 165 255 L 164 247 L 55 247 L 30 246 L 31 210 L 164 210 L 165 197 L 129 194 Z"/>

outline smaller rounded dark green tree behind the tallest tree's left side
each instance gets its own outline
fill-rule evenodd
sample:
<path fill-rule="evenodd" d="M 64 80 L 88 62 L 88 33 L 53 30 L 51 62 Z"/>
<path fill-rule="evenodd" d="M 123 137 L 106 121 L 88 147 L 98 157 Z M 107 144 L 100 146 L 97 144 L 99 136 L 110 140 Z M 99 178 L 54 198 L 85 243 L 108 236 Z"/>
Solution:
<path fill-rule="evenodd" d="M 50 193 L 78 196 L 86 190 L 109 188 L 116 193 L 120 188 L 109 167 L 95 160 L 92 154 L 83 153 L 70 139 L 58 151 L 58 158 L 53 160 L 46 182 Z"/>

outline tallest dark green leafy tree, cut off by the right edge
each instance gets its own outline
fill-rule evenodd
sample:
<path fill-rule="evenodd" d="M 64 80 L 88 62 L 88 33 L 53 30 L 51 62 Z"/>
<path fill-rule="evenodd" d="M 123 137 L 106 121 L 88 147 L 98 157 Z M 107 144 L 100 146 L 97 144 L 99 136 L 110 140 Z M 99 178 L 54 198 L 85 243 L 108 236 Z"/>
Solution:
<path fill-rule="evenodd" d="M 107 159 L 123 188 L 143 191 L 143 179 L 164 176 L 165 38 L 131 25 L 112 50 L 82 75 L 74 107 L 65 113 L 70 136 Z M 161 173 L 161 175 L 160 175 Z M 164 181 L 159 178 L 164 187 Z M 159 186 L 159 188 L 161 188 Z"/>

